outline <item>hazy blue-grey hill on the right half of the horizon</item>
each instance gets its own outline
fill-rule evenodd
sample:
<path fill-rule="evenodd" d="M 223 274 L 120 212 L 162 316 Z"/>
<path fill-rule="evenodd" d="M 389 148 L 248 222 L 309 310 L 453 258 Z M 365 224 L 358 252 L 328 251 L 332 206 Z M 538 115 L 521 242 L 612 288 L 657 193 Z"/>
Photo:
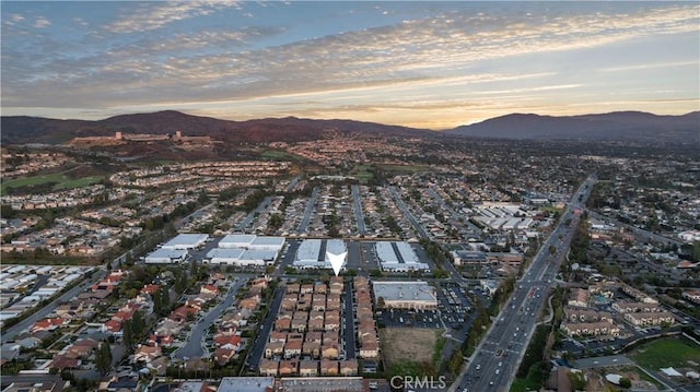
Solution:
<path fill-rule="evenodd" d="M 508 115 L 444 131 L 474 138 L 535 140 L 619 140 L 700 143 L 700 111 L 656 116 L 641 111 L 552 117 Z"/>

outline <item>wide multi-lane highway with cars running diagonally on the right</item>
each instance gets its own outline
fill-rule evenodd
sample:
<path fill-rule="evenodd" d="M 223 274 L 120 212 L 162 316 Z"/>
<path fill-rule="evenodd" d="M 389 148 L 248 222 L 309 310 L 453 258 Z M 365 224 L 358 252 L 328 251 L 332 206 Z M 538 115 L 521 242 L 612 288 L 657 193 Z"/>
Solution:
<path fill-rule="evenodd" d="M 569 249 L 595 178 L 587 178 L 564 209 L 515 290 L 451 391 L 509 391 L 537 324 L 540 309 Z M 567 223 L 569 223 L 567 225 Z M 550 253 L 550 246 L 555 248 Z"/>

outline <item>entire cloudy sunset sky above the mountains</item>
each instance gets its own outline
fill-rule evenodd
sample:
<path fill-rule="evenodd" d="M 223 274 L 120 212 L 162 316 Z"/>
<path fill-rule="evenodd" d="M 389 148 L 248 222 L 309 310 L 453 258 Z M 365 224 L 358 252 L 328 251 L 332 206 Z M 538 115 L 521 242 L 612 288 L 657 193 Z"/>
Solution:
<path fill-rule="evenodd" d="M 700 3 L 2 1 L 2 116 L 700 110 Z"/>

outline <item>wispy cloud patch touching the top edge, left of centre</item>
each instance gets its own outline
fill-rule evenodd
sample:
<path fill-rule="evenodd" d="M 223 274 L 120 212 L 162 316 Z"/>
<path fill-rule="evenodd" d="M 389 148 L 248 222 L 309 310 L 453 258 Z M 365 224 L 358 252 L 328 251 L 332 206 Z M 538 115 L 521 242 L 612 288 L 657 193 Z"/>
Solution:
<path fill-rule="evenodd" d="M 161 28 L 170 23 L 203 16 L 217 10 L 238 7 L 237 1 L 167 1 L 129 7 L 118 21 L 105 28 L 110 33 L 137 33 Z"/>

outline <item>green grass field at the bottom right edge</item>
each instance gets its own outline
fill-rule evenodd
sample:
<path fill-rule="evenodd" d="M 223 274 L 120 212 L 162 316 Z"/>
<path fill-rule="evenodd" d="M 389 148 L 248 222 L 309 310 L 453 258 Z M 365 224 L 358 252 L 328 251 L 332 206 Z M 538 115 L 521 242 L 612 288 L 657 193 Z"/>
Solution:
<path fill-rule="evenodd" d="M 634 349 L 630 357 L 641 367 L 658 370 L 665 367 L 685 367 L 688 360 L 700 363 L 700 347 L 678 338 L 662 338 Z"/>

